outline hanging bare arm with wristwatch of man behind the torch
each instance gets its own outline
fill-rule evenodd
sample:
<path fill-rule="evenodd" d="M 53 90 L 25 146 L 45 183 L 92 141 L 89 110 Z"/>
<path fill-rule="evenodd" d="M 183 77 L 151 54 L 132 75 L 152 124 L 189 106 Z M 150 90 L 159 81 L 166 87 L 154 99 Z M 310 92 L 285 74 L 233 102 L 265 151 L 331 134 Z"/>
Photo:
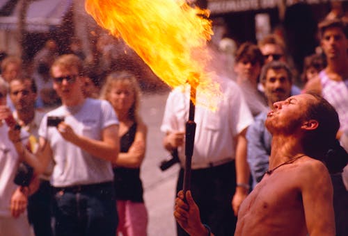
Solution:
<path fill-rule="evenodd" d="M 236 137 L 236 181 L 237 187 L 235 195 L 232 199 L 232 208 L 235 212 L 235 215 L 238 214 L 239 206 L 242 204 L 242 201 L 248 196 L 249 192 L 249 176 L 250 169 L 248 162 L 246 161 L 246 128 L 242 130 Z"/>

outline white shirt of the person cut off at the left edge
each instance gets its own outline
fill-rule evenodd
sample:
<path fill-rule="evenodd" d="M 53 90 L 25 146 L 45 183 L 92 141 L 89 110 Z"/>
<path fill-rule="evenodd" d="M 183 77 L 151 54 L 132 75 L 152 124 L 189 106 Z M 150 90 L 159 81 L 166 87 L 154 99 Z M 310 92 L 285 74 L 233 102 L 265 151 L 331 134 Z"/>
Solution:
<path fill-rule="evenodd" d="M 26 144 L 29 134 L 22 130 L 21 137 Z M 11 217 L 10 200 L 18 187 L 13 182 L 18 165 L 19 156 L 13 142 L 8 139 L 8 126 L 3 123 L 0 125 L 0 217 Z"/>

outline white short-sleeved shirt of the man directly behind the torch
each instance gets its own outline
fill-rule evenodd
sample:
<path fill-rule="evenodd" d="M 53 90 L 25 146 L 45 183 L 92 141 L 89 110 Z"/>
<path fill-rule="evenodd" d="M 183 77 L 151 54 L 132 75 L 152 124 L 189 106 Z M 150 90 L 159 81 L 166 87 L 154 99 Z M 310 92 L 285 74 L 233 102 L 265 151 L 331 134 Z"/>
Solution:
<path fill-rule="evenodd" d="M 192 169 L 201 169 L 230 158 L 235 159 L 233 138 L 253 122 L 246 101 L 238 85 L 228 78 L 219 79 L 223 99 L 214 112 L 203 106 L 196 106 L 196 135 L 193 147 Z M 184 91 L 186 90 L 186 91 Z M 199 87 L 196 100 L 199 102 Z M 161 131 L 184 131 L 189 118 L 189 87 L 177 87 L 167 99 Z M 179 156 L 184 163 L 184 147 L 179 149 Z"/>

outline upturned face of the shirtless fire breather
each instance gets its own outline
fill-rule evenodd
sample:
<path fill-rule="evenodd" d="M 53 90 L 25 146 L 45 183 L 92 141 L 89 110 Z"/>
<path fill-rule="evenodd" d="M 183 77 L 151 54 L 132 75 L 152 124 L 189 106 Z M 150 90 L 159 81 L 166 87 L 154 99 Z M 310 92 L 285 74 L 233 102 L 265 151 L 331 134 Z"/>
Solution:
<path fill-rule="evenodd" d="M 308 107 L 313 103 L 315 98 L 310 94 L 299 94 L 290 96 L 285 101 L 278 101 L 268 113 L 265 126 L 272 135 L 292 135 L 301 128 Z"/>

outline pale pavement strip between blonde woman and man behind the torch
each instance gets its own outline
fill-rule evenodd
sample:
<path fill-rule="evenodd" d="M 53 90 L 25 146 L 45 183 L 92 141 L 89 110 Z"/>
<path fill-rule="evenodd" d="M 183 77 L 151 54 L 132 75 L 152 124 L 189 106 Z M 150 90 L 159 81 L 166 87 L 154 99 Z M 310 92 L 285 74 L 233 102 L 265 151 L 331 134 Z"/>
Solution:
<path fill-rule="evenodd" d="M 166 171 L 159 169 L 159 162 L 169 153 L 162 146 L 164 134 L 160 131 L 168 92 L 146 94 L 141 98 L 141 116 L 148 125 L 148 145 L 141 167 L 145 205 L 148 208 L 148 235 L 176 235 L 173 217 L 174 196 L 179 165 Z"/>

